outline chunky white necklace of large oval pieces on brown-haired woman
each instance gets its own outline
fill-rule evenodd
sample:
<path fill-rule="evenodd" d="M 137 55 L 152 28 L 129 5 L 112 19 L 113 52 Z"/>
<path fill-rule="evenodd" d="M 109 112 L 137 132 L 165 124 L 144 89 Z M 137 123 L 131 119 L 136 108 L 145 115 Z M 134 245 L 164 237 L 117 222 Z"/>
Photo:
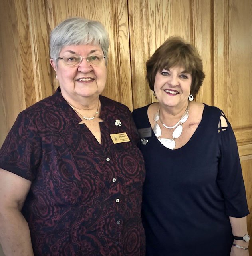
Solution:
<path fill-rule="evenodd" d="M 182 131 L 183 131 L 182 124 L 187 121 L 188 116 L 189 116 L 189 112 L 188 112 L 188 107 L 187 107 L 187 109 L 185 110 L 185 113 L 181 116 L 179 122 L 177 122 L 177 124 L 175 124 L 174 126 L 169 127 L 169 126 L 165 125 L 164 123 L 162 123 L 161 119 L 159 118 L 159 109 L 157 110 L 157 112 L 154 114 L 154 118 L 153 118 L 155 121 L 153 131 L 154 131 L 155 136 L 161 142 L 161 144 L 163 144 L 166 148 L 169 148 L 169 149 L 175 148 L 176 142 L 174 139 L 177 139 L 177 138 L 179 138 L 179 136 L 181 136 Z M 167 129 L 175 128 L 175 130 L 173 131 L 173 134 L 172 134 L 172 136 L 173 136 L 172 139 L 160 138 L 162 132 L 161 132 L 161 128 L 160 128 L 159 124 L 157 124 L 157 121 L 159 119 L 165 128 L 167 128 Z"/>

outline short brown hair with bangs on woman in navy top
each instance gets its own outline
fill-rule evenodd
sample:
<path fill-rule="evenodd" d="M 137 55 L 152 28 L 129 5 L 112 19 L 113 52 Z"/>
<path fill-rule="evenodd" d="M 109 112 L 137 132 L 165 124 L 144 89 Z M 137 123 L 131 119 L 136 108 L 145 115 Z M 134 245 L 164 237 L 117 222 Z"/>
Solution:
<path fill-rule="evenodd" d="M 146 79 L 151 90 L 157 72 L 175 66 L 184 67 L 192 75 L 191 94 L 195 97 L 205 78 L 202 59 L 194 45 L 178 36 L 169 37 L 147 60 Z"/>

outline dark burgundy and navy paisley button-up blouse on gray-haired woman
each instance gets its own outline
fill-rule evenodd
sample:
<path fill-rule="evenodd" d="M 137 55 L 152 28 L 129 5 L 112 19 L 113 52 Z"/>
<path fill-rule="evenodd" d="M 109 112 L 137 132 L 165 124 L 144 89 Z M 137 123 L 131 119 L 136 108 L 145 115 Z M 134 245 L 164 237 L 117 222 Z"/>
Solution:
<path fill-rule="evenodd" d="M 100 101 L 101 144 L 58 88 L 19 114 L 0 150 L 1 168 L 32 181 L 22 214 L 35 256 L 145 255 L 137 130 L 126 106 Z M 113 144 L 121 132 L 130 142 Z"/>

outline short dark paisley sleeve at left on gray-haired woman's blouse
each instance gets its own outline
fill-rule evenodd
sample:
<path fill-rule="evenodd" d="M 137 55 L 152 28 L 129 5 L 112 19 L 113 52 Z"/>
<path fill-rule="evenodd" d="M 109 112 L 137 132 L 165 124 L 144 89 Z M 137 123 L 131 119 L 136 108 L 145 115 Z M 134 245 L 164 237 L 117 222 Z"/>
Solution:
<path fill-rule="evenodd" d="M 38 129 L 33 118 L 23 111 L 0 149 L 0 168 L 32 181 L 36 177 L 41 152 Z"/>

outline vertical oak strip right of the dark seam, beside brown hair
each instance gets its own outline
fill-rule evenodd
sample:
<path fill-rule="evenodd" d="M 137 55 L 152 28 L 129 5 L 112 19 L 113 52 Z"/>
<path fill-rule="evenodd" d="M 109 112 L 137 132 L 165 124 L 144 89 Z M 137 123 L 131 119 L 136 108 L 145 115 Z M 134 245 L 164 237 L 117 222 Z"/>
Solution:
<path fill-rule="evenodd" d="M 145 80 L 145 63 L 150 55 L 149 1 L 129 0 L 129 37 L 133 109 L 150 103 L 151 92 Z M 153 50 L 152 50 L 153 52 Z"/>

